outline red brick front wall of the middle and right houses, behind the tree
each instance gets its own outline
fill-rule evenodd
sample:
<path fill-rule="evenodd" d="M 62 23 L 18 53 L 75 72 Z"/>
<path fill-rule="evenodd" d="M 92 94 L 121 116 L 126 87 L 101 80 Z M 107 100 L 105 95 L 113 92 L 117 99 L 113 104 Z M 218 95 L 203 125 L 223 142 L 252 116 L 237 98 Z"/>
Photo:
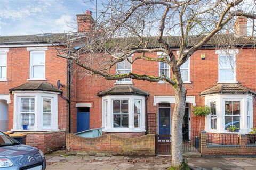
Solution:
<path fill-rule="evenodd" d="M 205 54 L 205 60 L 201 60 L 201 54 Z M 139 54 L 134 54 L 136 57 Z M 149 57 L 158 57 L 156 53 L 146 54 Z M 254 49 L 240 49 L 237 55 L 237 81 L 242 86 L 256 91 L 256 53 Z M 79 72 L 79 71 L 78 71 Z M 82 71 L 84 72 L 84 71 Z M 115 69 L 112 71 L 115 73 Z M 148 62 L 145 60 L 137 60 L 132 65 L 132 72 L 138 74 L 158 75 L 158 63 Z M 101 97 L 97 94 L 100 91 L 106 90 L 114 86 L 115 81 L 107 81 L 100 76 L 86 76 L 77 74 L 77 102 L 92 103 L 90 108 L 90 128 L 101 127 Z M 218 82 L 218 55 L 215 54 L 215 49 L 198 50 L 190 57 L 190 81 L 191 84 L 185 84 L 187 96 L 196 97 L 196 105 L 204 105 L 204 97 L 199 94 L 203 90 L 215 86 Z M 169 84 L 158 84 L 157 82 L 148 82 L 141 80 L 132 80 L 133 85 L 149 92 L 148 98 L 148 113 L 155 113 L 157 120 L 157 106 L 153 106 L 154 96 L 174 96 L 174 90 Z M 86 86 L 85 86 L 86 83 Z M 173 113 L 174 104 L 171 105 Z M 253 104 L 253 119 L 254 126 L 256 125 L 256 105 Z M 191 129 L 199 132 L 199 117 L 195 117 L 191 113 Z M 202 118 L 201 130 L 204 130 L 204 118 Z M 150 127 L 151 129 L 154 129 Z M 156 127 L 157 129 L 157 123 Z"/>

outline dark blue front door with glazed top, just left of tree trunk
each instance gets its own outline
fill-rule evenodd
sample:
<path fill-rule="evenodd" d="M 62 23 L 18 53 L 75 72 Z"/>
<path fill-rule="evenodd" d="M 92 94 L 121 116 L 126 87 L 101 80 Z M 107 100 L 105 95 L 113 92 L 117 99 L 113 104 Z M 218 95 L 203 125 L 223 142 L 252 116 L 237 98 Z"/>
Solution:
<path fill-rule="evenodd" d="M 158 115 L 158 128 L 159 128 L 159 135 L 170 135 L 171 134 L 171 109 L 170 108 L 158 108 L 159 115 Z"/>

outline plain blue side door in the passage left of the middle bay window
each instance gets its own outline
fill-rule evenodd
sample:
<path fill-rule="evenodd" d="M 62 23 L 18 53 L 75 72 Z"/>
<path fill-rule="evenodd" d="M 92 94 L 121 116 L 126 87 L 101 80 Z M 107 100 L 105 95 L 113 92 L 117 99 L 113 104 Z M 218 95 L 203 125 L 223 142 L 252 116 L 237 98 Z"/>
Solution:
<path fill-rule="evenodd" d="M 90 129 L 90 112 L 77 108 L 77 132 Z"/>

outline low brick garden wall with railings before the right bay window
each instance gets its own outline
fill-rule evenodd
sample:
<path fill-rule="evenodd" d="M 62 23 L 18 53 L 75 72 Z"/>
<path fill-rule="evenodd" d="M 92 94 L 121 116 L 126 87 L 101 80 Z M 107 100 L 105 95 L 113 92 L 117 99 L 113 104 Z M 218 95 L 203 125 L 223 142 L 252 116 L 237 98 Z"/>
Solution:
<path fill-rule="evenodd" d="M 215 134 L 219 139 L 214 139 L 212 135 L 205 131 L 201 132 L 202 156 L 256 156 L 256 144 L 247 144 L 245 134 L 234 134 L 233 137 L 228 138 L 225 134 L 221 138 L 220 134 Z"/>

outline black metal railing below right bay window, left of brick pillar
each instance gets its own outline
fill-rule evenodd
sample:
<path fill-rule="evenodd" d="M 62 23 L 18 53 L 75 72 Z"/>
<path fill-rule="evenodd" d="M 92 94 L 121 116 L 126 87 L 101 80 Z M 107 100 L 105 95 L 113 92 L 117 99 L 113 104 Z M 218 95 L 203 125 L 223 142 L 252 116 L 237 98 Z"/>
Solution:
<path fill-rule="evenodd" d="M 238 134 L 206 134 L 207 145 L 238 145 Z"/>

